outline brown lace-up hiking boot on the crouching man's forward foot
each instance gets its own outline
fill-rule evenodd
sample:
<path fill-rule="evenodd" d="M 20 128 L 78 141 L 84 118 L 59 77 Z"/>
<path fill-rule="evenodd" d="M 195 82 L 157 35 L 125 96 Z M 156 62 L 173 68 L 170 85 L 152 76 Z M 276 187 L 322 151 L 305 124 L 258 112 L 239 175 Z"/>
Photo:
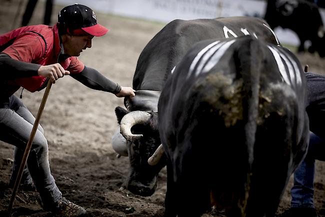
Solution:
<path fill-rule="evenodd" d="M 79 205 L 70 202 L 63 196 L 57 202 L 56 216 L 85 216 L 86 210 Z"/>

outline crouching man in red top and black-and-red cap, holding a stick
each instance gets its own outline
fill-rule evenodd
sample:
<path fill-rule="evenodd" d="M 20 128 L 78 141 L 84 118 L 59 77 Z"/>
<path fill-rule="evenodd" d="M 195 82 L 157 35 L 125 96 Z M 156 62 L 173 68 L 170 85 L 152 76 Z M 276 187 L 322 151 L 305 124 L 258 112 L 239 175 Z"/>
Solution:
<path fill-rule="evenodd" d="M 87 6 L 64 7 L 54 26 L 30 25 L 0 35 L 0 140 L 15 145 L 9 185 L 13 186 L 22 155 L 35 118 L 13 93 L 20 87 L 31 92 L 41 90 L 47 82 L 69 74 L 84 85 L 111 92 L 117 97 L 134 96 L 131 87 L 123 87 L 84 66 L 77 58 L 91 47 L 94 36 L 107 28 L 96 22 L 95 13 Z M 43 209 L 64 216 L 82 216 L 86 211 L 65 199 L 55 184 L 48 163 L 47 140 L 38 125 L 24 170 L 22 186 L 33 183 L 39 192 Z"/>

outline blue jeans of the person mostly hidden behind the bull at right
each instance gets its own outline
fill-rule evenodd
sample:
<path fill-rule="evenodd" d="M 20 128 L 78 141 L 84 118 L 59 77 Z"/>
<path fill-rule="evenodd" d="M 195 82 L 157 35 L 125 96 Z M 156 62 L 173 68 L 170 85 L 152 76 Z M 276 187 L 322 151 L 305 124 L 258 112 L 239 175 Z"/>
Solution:
<path fill-rule="evenodd" d="M 324 151 L 325 139 L 311 132 L 307 155 L 294 171 L 291 207 L 315 207 L 313 203 L 315 159 L 324 160 Z"/>

